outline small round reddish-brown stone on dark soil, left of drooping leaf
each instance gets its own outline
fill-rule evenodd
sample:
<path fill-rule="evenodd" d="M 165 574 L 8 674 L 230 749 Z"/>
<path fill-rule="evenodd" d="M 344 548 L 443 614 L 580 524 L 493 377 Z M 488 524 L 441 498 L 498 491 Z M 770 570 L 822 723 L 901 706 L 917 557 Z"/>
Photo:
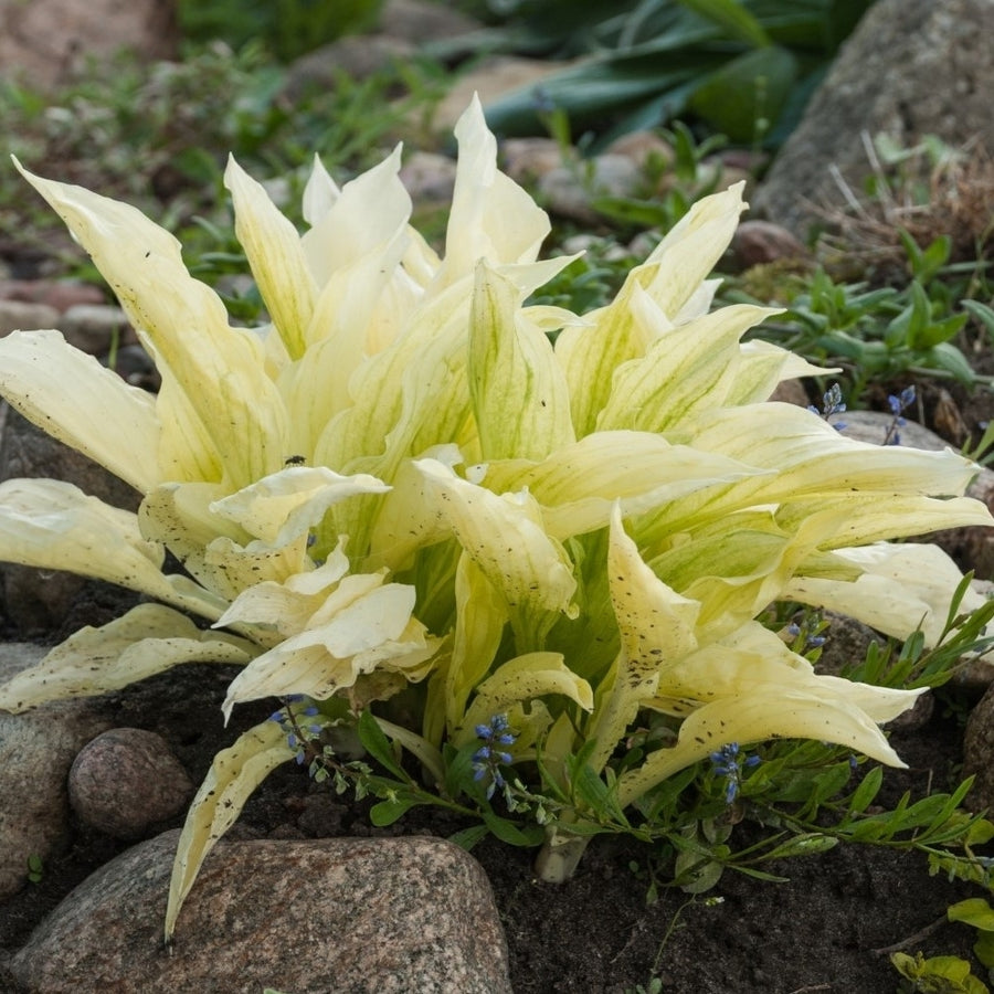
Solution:
<path fill-rule="evenodd" d="M 68 775 L 73 811 L 91 828 L 140 838 L 178 814 L 193 783 L 168 743 L 139 728 L 114 728 L 89 741 Z"/>

